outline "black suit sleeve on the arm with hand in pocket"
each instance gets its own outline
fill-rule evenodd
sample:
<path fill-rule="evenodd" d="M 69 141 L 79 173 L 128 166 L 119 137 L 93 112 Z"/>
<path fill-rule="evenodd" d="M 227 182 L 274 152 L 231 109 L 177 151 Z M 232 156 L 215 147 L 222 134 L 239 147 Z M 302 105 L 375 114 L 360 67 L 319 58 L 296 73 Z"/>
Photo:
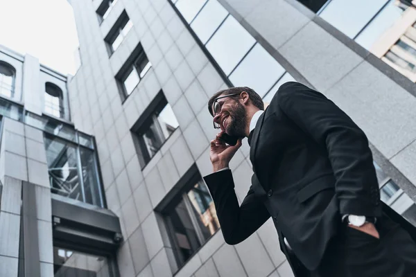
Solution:
<path fill-rule="evenodd" d="M 289 82 L 277 105 L 313 140 L 327 149 L 342 215 L 381 216 L 379 185 L 364 132 L 322 93 Z"/>

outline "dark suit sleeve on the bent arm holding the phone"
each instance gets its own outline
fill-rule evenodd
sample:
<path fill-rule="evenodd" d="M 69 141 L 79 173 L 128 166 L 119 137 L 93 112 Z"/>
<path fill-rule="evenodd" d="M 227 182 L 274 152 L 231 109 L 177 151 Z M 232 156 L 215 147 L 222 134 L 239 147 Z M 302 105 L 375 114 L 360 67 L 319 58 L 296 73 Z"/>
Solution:
<path fill-rule="evenodd" d="M 231 170 L 215 172 L 205 176 L 204 180 L 214 199 L 221 231 L 227 244 L 242 242 L 270 217 L 264 204 L 254 195 L 252 187 L 239 206 Z"/>

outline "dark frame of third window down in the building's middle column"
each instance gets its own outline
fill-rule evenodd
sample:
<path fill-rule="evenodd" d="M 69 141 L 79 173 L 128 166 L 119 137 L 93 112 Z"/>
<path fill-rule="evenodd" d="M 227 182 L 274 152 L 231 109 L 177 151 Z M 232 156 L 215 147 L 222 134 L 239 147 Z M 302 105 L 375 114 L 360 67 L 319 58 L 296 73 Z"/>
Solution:
<path fill-rule="evenodd" d="M 137 70 L 137 63 L 144 64 L 144 68 L 146 68 L 147 64 L 150 64 L 150 67 L 146 71 L 146 73 L 143 76 L 140 76 L 142 72 L 139 72 Z M 130 73 L 133 70 L 137 71 L 137 75 L 139 76 L 139 82 L 137 82 L 135 88 L 140 84 L 141 80 L 147 75 L 148 71 L 150 71 L 150 68 L 152 68 L 152 64 L 150 63 L 150 60 L 148 59 L 148 56 L 146 55 L 146 52 L 144 51 L 143 46 L 141 46 L 141 43 L 137 44 L 135 50 L 132 51 L 128 59 L 124 62 L 123 66 L 121 66 L 121 69 L 116 74 L 116 82 L 117 87 L 119 87 L 119 94 L 121 97 L 121 101 L 124 103 L 125 100 L 130 96 L 127 89 L 125 88 L 124 82 L 130 75 Z M 132 91 L 135 90 L 135 88 L 132 89 Z"/>

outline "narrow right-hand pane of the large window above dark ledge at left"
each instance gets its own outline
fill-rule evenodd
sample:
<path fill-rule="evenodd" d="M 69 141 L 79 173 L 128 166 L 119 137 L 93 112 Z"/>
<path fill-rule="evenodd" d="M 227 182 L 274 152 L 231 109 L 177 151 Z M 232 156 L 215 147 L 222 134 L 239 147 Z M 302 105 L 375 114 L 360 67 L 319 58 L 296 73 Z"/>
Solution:
<path fill-rule="evenodd" d="M 102 206 L 96 159 L 92 150 L 80 148 L 81 170 L 83 172 L 85 202 Z"/>

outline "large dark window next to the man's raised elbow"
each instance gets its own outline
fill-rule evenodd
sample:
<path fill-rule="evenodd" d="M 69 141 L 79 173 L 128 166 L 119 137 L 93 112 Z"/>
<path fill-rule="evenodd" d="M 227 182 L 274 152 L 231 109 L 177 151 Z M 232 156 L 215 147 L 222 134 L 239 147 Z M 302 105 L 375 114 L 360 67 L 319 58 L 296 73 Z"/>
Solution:
<path fill-rule="evenodd" d="M 214 201 L 199 173 L 185 183 L 162 210 L 162 215 L 178 267 L 220 228 Z"/>

